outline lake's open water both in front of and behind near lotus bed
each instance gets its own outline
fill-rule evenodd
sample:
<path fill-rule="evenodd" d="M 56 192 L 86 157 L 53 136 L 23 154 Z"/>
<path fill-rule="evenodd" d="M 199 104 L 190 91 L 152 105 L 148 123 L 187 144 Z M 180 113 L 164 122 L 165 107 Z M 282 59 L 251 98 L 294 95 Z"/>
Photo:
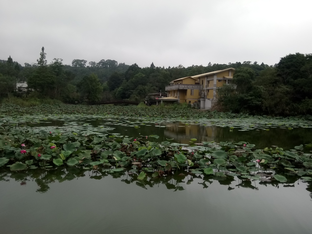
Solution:
<path fill-rule="evenodd" d="M 283 119 L 150 119 L 100 115 L 12 117 L 34 131 L 106 134 L 189 144 L 247 141 L 293 149 L 312 141 L 311 123 Z M 308 153 L 309 151 L 307 151 Z M 268 170 L 270 172 L 270 170 Z M 311 233 L 311 181 L 287 183 L 201 174 L 138 180 L 92 169 L 0 170 L 1 233 Z"/>

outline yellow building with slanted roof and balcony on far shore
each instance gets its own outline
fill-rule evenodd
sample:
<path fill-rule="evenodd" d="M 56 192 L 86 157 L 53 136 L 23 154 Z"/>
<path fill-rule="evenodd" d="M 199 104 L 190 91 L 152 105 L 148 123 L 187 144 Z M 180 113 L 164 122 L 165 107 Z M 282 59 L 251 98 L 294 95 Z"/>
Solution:
<path fill-rule="evenodd" d="M 167 98 L 162 101 L 198 103 L 200 109 L 211 109 L 217 102 L 217 89 L 223 84 L 230 84 L 234 68 L 212 71 L 196 76 L 183 77 L 166 86 Z"/>

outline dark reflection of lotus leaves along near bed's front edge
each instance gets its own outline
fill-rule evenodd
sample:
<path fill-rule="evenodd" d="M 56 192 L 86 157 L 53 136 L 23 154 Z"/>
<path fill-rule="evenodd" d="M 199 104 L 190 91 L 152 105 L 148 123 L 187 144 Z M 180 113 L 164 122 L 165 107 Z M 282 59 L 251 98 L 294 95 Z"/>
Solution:
<path fill-rule="evenodd" d="M 46 193 L 50 189 L 49 185 L 51 183 L 62 183 L 64 181 L 71 181 L 81 177 L 87 177 L 95 180 L 111 177 L 120 179 L 121 182 L 126 184 L 134 183 L 144 189 L 148 189 L 149 187 L 159 187 L 160 184 L 164 184 L 167 189 L 173 190 L 174 192 L 185 190 L 185 187 L 191 183 L 200 184 L 203 189 L 208 188 L 212 183 L 218 183 L 220 185 L 227 186 L 227 190 L 229 191 L 238 188 L 259 190 L 261 186 L 273 186 L 275 188 L 283 186 L 285 188 L 293 188 L 296 184 L 305 183 L 307 185 L 306 190 L 310 192 L 310 197 L 312 198 L 312 182 L 301 181 L 296 176 L 288 176 L 288 183 L 279 183 L 276 180 L 271 181 L 267 179 L 271 175 L 270 172 L 260 172 L 257 174 L 260 176 L 259 180 L 242 178 L 241 176 L 217 177 L 215 175 L 196 175 L 182 171 L 180 174 L 170 173 L 156 178 L 151 176 L 152 173 L 148 173 L 144 180 L 139 180 L 137 178 L 138 174 L 128 171 L 108 173 L 107 171 L 84 170 L 76 167 L 50 170 L 35 169 L 24 172 L 11 172 L 9 169 L 1 169 L 0 182 L 10 182 L 11 180 L 14 180 L 20 183 L 21 186 L 27 186 L 29 182 L 35 182 L 37 184 L 36 192 L 38 193 Z M 194 180 L 196 182 L 194 182 Z M 198 180 L 200 182 L 198 182 Z"/>

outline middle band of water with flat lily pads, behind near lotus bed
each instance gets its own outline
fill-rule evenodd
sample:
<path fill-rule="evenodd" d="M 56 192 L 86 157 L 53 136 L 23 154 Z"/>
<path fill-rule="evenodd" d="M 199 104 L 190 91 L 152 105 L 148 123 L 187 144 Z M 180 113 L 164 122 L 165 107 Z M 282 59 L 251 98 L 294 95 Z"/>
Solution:
<path fill-rule="evenodd" d="M 101 115 L 51 115 L 21 116 L 12 119 L 17 124 L 26 124 L 47 132 L 60 129 L 64 133 L 126 135 L 129 137 L 159 135 L 158 142 L 189 144 L 196 138 L 203 141 L 247 141 L 256 148 L 279 146 L 293 149 L 300 144 L 312 142 L 311 121 L 286 121 L 285 119 L 175 119 L 126 118 Z M 135 128 L 138 127 L 138 128 Z M 233 129 L 230 129 L 230 128 Z"/>

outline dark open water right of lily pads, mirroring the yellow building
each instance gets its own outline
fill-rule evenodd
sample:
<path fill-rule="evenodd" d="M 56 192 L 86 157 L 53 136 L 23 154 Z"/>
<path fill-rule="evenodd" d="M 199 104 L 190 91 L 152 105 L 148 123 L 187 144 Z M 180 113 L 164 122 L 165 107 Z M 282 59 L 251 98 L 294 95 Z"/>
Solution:
<path fill-rule="evenodd" d="M 166 124 L 164 129 L 166 138 L 173 138 L 183 144 L 189 144 L 191 138 L 196 138 L 197 142 L 202 141 L 247 141 L 256 144 L 258 149 L 264 149 L 276 145 L 284 149 L 293 149 L 300 144 L 309 144 L 312 141 L 312 129 L 295 128 L 292 130 L 285 128 L 271 128 L 267 130 L 247 130 L 233 129 L 228 127 L 204 126 L 182 123 Z"/>

